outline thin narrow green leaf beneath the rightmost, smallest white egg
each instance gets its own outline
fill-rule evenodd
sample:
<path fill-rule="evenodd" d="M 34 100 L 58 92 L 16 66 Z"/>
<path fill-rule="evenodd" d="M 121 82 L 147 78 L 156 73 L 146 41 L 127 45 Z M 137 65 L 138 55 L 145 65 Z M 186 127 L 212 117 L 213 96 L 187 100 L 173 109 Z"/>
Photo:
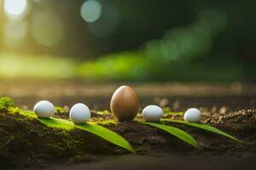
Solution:
<path fill-rule="evenodd" d="M 198 128 L 207 130 L 207 131 L 212 132 L 212 133 L 218 133 L 218 134 L 223 135 L 223 136 L 225 136 L 229 139 L 233 139 L 236 142 L 241 142 L 241 140 L 236 139 L 235 137 L 231 136 L 230 134 L 224 133 L 223 131 L 218 130 L 218 128 L 212 127 L 212 126 L 204 124 L 204 123 L 185 122 L 185 121 L 179 121 L 179 120 L 173 120 L 173 119 L 161 119 L 161 120 L 166 121 L 166 122 L 183 123 L 183 124 L 189 125 L 191 127 L 198 127 Z"/>

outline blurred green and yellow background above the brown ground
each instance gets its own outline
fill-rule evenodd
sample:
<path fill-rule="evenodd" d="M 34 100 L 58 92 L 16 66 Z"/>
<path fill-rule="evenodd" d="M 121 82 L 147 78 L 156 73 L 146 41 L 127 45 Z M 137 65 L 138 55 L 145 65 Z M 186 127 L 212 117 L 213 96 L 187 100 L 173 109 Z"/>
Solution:
<path fill-rule="evenodd" d="M 256 2 L 0 0 L 0 79 L 255 82 Z"/>

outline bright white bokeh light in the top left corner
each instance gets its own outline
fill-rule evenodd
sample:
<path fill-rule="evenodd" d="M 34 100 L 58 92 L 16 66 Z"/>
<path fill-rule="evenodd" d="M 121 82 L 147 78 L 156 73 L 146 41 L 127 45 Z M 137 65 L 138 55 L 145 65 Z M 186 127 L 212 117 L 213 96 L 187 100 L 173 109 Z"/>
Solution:
<path fill-rule="evenodd" d="M 9 17 L 16 18 L 26 12 L 26 0 L 4 0 L 3 8 L 5 14 Z"/>

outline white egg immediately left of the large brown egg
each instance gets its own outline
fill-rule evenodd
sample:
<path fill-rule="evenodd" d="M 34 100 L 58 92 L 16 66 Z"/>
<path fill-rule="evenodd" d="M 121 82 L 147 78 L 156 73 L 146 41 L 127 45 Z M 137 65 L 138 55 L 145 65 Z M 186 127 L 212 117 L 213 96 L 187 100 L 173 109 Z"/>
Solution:
<path fill-rule="evenodd" d="M 87 122 L 90 119 L 90 109 L 81 103 L 73 105 L 69 111 L 69 118 L 74 124 Z"/>

